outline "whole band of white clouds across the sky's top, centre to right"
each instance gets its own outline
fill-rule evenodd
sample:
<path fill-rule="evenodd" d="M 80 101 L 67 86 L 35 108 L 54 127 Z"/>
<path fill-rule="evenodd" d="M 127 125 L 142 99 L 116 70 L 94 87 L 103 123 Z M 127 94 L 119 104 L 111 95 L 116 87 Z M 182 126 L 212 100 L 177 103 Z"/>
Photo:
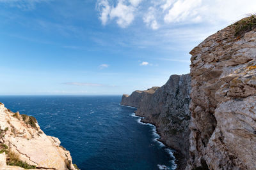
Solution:
<path fill-rule="evenodd" d="M 248 13 L 255 13 L 256 6 L 255 0 L 151 0 L 141 3 L 142 1 L 98 0 L 99 19 L 103 25 L 109 20 L 115 20 L 120 27 L 125 28 L 135 18 L 141 17 L 153 30 L 173 24 L 220 25 L 227 22 L 231 24 Z"/>

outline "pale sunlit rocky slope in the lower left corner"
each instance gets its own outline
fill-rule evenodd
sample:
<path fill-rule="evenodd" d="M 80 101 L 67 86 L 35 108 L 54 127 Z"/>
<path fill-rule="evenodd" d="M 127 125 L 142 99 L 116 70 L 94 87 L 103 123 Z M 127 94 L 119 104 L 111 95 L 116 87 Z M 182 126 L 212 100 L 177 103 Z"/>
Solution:
<path fill-rule="evenodd" d="M 0 103 L 0 169 L 24 168 L 76 169 L 60 140 L 45 135 L 35 118 L 13 113 Z"/>

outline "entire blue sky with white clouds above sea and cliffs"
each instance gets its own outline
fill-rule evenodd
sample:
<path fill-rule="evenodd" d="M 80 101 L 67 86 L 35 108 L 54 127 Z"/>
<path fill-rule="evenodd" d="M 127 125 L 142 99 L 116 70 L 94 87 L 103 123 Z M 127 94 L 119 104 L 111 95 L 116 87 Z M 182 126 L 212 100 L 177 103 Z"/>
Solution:
<path fill-rule="evenodd" d="M 0 0 L 0 95 L 121 95 L 189 73 L 255 0 Z"/>

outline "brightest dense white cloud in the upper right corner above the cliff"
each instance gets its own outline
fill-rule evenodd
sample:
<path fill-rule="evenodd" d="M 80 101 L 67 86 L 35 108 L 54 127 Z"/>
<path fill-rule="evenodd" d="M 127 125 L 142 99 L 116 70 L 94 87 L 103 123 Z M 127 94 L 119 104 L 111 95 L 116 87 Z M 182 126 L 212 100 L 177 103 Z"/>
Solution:
<path fill-rule="evenodd" d="M 218 24 L 231 23 L 248 13 L 255 13 L 255 6 L 254 0 L 165 0 L 161 8 L 166 24 L 175 22 Z"/>

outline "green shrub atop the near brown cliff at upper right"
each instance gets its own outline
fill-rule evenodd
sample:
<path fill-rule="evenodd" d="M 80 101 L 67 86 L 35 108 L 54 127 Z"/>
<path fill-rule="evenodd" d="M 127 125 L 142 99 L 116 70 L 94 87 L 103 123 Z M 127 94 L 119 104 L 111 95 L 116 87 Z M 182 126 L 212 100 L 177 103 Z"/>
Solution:
<path fill-rule="evenodd" d="M 234 24 L 236 34 L 235 36 L 242 36 L 246 32 L 252 31 L 256 28 L 256 15 L 250 15 L 249 17 L 243 18 Z"/>

